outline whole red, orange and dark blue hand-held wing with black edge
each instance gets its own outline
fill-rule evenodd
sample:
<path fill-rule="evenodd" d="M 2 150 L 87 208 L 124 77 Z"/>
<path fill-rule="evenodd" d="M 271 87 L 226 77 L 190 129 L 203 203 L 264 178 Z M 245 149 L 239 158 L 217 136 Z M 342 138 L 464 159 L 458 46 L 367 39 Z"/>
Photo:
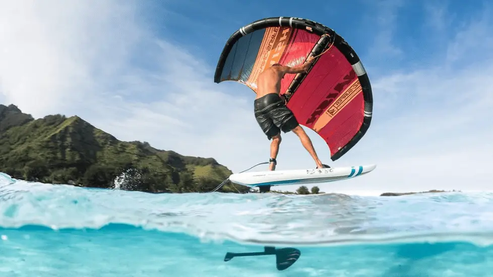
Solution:
<path fill-rule="evenodd" d="M 257 77 L 274 63 L 302 64 L 308 73 L 287 74 L 281 94 L 298 122 L 316 131 L 339 159 L 365 134 L 372 120 L 372 87 L 356 52 L 334 30 L 305 19 L 275 17 L 234 32 L 219 57 L 214 82 L 236 81 L 257 89 Z"/>

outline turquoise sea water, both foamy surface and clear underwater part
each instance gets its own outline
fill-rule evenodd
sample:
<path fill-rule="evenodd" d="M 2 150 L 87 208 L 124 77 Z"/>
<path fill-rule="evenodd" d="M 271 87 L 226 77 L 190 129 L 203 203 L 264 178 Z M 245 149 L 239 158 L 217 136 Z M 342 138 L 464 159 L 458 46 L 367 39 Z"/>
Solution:
<path fill-rule="evenodd" d="M 491 276 L 492 234 L 491 193 L 148 194 L 0 174 L 0 276 Z M 295 262 L 278 270 L 276 252 Z"/>

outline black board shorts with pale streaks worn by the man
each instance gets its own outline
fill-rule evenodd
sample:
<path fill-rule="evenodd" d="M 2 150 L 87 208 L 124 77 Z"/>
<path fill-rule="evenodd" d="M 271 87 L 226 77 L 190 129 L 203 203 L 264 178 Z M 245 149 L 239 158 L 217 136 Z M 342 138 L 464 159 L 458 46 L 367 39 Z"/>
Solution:
<path fill-rule="evenodd" d="M 270 140 L 280 133 L 287 133 L 299 125 L 293 112 L 286 107 L 277 93 L 269 93 L 255 99 L 255 119 Z"/>

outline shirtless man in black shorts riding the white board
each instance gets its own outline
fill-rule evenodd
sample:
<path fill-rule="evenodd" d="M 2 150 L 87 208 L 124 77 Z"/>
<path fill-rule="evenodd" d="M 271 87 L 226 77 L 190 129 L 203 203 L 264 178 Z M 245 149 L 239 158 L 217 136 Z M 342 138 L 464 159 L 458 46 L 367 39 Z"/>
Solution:
<path fill-rule="evenodd" d="M 281 143 L 281 130 L 285 133 L 293 131 L 299 137 L 301 144 L 317 164 L 317 168 L 328 167 L 322 164 L 310 137 L 301 128 L 294 114 L 279 95 L 281 80 L 284 75 L 306 72 L 310 68 L 311 62 L 312 60 L 309 60 L 297 67 L 274 64 L 262 72 L 257 79 L 257 97 L 254 102 L 255 118 L 267 138 L 272 139 L 269 170 L 276 168 L 276 158 Z"/>

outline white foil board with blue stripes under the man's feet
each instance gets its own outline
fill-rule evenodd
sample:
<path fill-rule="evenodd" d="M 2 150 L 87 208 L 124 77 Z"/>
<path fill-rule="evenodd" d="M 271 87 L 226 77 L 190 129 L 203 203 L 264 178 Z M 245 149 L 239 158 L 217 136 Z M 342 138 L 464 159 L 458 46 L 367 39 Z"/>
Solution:
<path fill-rule="evenodd" d="M 325 183 L 358 177 L 372 172 L 376 167 L 376 164 L 371 164 L 319 169 L 253 171 L 231 174 L 229 180 L 249 187 Z"/>

